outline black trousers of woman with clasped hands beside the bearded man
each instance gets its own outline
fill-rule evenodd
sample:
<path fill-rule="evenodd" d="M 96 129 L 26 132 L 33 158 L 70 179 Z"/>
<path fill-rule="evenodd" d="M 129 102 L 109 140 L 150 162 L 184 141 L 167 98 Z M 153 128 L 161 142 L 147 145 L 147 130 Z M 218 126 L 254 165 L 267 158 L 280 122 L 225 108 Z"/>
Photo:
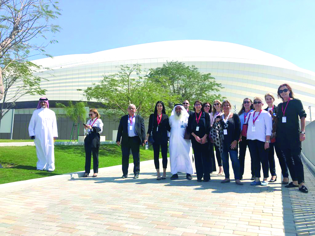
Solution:
<path fill-rule="evenodd" d="M 197 179 L 209 180 L 212 163 L 209 155 L 208 143 L 198 143 L 195 138 L 192 138 L 192 149 L 194 150 L 195 167 Z"/>

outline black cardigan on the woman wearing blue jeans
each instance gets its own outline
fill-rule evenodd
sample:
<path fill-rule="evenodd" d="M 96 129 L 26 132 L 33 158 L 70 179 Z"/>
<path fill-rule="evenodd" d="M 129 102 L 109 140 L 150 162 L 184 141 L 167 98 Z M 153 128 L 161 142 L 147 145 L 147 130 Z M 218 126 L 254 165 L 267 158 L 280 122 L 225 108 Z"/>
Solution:
<path fill-rule="evenodd" d="M 223 115 L 221 115 L 221 118 L 223 118 Z M 233 116 L 226 121 L 226 124 L 224 124 L 223 119 L 221 119 L 220 125 L 222 130 L 227 130 L 227 134 L 224 134 L 223 149 L 238 151 L 238 142 L 236 144 L 236 149 L 231 149 L 231 143 L 234 140 L 238 141 L 241 134 L 241 120 L 239 119 L 239 116 L 233 114 Z"/>

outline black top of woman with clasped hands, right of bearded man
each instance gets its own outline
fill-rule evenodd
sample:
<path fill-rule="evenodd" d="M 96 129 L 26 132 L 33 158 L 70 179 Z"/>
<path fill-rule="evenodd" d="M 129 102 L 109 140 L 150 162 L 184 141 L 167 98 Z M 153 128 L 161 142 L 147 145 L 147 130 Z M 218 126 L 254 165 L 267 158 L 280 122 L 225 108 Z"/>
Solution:
<path fill-rule="evenodd" d="M 196 121 L 196 115 L 197 119 L 199 119 L 200 113 L 192 113 L 192 115 L 188 118 L 188 125 L 187 125 L 187 131 L 189 133 L 196 134 L 199 138 L 202 138 L 205 134 L 209 135 L 210 129 L 211 129 L 211 122 L 210 122 L 210 115 L 207 112 L 202 112 L 200 116 L 200 120 L 198 123 L 199 130 L 196 131 L 197 127 L 197 121 Z M 208 137 L 207 137 L 208 138 Z"/>

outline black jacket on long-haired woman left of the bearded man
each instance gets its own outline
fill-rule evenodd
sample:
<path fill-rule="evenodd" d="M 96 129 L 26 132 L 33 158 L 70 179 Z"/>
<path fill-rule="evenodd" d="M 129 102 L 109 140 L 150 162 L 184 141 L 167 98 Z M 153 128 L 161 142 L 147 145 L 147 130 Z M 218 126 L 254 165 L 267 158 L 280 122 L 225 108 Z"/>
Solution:
<path fill-rule="evenodd" d="M 152 120 L 153 120 L 153 130 L 152 130 Z M 166 114 L 162 114 L 161 122 L 157 129 L 157 116 L 151 114 L 149 117 L 149 126 L 148 126 L 148 134 L 151 134 L 154 139 L 154 143 L 167 143 L 167 131 L 171 131 L 171 127 L 169 126 L 169 116 Z"/>

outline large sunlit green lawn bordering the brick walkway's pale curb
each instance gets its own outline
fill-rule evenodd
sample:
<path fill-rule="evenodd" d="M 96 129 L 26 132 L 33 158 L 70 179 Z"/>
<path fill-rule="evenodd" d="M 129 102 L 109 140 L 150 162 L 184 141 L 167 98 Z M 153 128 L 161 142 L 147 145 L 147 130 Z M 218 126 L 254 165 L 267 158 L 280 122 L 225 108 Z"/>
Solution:
<path fill-rule="evenodd" d="M 35 146 L 0 147 L 0 184 L 27 179 L 34 179 L 52 175 L 60 175 L 75 171 L 84 171 L 85 153 L 84 146 L 55 146 L 55 167 L 53 172 L 36 170 Z M 152 160 L 153 148 L 145 150 L 140 147 L 140 161 Z M 129 163 L 132 163 L 130 155 Z M 121 165 L 121 149 L 117 145 L 104 144 L 100 146 L 99 168 Z M 93 158 L 91 167 L 93 168 Z M 154 169 L 154 166 L 152 166 Z M 93 173 L 92 173 L 93 174 Z"/>

